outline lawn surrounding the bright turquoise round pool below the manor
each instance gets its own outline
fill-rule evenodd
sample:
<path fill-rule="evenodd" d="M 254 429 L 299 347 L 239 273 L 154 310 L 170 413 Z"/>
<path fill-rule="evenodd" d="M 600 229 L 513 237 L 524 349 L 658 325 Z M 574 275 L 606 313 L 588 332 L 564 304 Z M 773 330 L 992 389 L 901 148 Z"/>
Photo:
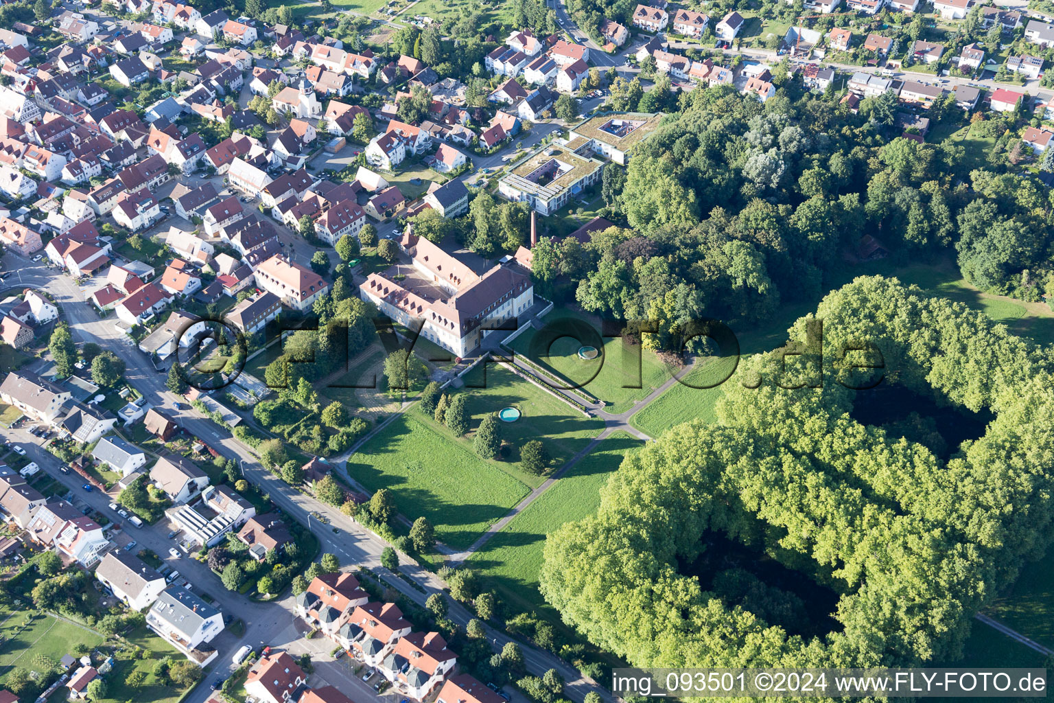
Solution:
<path fill-rule="evenodd" d="M 507 368 L 487 366 L 486 379 L 482 364 L 465 375 L 465 391 L 470 392 L 468 411 L 472 415 L 474 430 L 484 416 L 502 408 L 513 406 L 520 410 L 520 419 L 501 425 L 502 437 L 511 449 L 507 462 L 519 463 L 520 447 L 529 440 L 541 440 L 552 458 L 552 467 L 559 468 L 604 429 L 603 421 L 584 416 Z M 485 388 L 473 388 L 484 385 Z M 541 483 L 536 476 L 529 474 L 519 477 L 532 485 Z"/>

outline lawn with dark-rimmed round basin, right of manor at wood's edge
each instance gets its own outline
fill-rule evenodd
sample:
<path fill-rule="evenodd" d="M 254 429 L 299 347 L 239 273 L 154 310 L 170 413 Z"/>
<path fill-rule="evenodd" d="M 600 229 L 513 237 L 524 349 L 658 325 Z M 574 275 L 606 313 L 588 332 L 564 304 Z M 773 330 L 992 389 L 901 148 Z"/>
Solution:
<path fill-rule="evenodd" d="M 601 333 L 594 323 L 567 310 L 552 312 L 542 320 L 546 326 L 564 321 L 585 325 L 598 337 Z M 621 337 L 602 339 L 604 353 L 596 359 L 584 360 L 578 355 L 583 343 L 572 336 L 552 338 L 540 332 L 533 328 L 526 330 L 512 340 L 513 351 L 603 401 L 607 412 L 618 414 L 629 410 L 669 378 L 666 366 L 658 356 L 640 346 L 626 344 Z M 548 349 L 545 348 L 547 343 L 550 343 Z"/>

